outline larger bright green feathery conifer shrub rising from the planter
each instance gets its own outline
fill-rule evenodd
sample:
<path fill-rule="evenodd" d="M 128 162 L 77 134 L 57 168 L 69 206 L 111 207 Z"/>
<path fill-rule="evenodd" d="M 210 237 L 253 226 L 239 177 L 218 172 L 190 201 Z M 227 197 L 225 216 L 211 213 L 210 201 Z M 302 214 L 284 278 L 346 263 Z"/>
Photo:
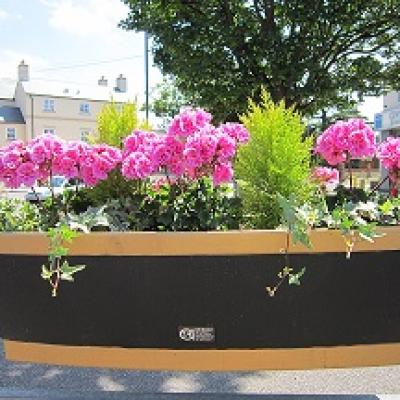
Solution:
<path fill-rule="evenodd" d="M 250 141 L 239 150 L 236 172 L 244 214 L 255 228 L 275 228 L 281 209 L 277 196 L 307 198 L 313 139 L 303 139 L 305 126 L 293 108 L 275 104 L 261 92 L 261 103 L 250 100 L 242 122 Z"/>

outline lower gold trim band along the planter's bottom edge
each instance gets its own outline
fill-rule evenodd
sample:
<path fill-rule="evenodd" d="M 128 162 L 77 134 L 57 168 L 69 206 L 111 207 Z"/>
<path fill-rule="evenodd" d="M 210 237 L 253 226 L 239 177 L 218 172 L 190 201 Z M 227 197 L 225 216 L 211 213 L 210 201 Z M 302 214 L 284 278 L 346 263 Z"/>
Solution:
<path fill-rule="evenodd" d="M 10 361 L 138 370 L 301 370 L 400 364 L 400 343 L 299 349 L 167 350 L 5 340 L 4 346 Z"/>

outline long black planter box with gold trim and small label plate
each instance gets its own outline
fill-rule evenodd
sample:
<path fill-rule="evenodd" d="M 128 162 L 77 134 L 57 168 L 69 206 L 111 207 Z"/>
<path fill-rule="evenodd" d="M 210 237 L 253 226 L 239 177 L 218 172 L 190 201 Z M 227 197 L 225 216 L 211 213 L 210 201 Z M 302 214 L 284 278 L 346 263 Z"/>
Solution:
<path fill-rule="evenodd" d="M 47 344 L 78 352 L 189 350 L 184 354 L 196 357 L 210 354 L 207 349 L 217 355 L 297 350 L 304 353 L 304 367 L 325 366 L 314 363 L 318 349 L 365 348 L 372 354 L 374 346 L 383 346 L 389 360 L 379 352 L 377 361 L 355 363 L 400 362 L 400 229 L 386 233 L 375 244 L 357 244 L 349 260 L 336 232 L 313 233 L 313 251 L 291 245 L 290 266 L 306 267 L 306 273 L 301 286 L 285 282 L 272 298 L 265 287 L 277 282 L 285 266 L 285 232 L 85 235 L 69 258 L 87 268 L 73 284 L 63 282 L 57 298 L 40 277 L 45 239 L 33 245 L 38 236 L 3 235 L 0 336 L 9 358 L 24 361 L 63 363 L 26 359 L 29 344 Z M 7 252 L 7 246 L 14 247 Z M 153 364 L 160 367 L 157 360 Z M 343 364 L 352 360 L 344 356 Z M 285 365 L 275 365 L 280 367 Z"/>

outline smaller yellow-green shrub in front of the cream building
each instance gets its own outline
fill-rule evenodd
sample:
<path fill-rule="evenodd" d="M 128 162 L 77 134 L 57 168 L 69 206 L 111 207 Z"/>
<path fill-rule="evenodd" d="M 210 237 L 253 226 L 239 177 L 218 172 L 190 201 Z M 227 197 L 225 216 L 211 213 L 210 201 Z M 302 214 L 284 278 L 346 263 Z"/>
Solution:
<path fill-rule="evenodd" d="M 103 106 L 97 117 L 96 143 L 122 147 L 123 140 L 139 125 L 136 103 L 122 105 L 111 102 Z"/>

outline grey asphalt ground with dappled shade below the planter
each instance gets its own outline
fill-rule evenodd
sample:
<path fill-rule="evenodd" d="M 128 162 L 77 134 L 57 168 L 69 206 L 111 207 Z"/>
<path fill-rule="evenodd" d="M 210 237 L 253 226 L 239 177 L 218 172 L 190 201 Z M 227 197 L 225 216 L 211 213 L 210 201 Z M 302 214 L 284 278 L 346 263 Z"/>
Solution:
<path fill-rule="evenodd" d="M 39 391 L 57 389 L 88 395 L 99 391 L 204 394 L 400 394 L 400 366 L 231 373 L 66 368 L 8 362 L 4 359 L 3 342 L 0 339 L 0 398 L 1 388 Z M 392 396 L 387 397 L 391 398 Z"/>

